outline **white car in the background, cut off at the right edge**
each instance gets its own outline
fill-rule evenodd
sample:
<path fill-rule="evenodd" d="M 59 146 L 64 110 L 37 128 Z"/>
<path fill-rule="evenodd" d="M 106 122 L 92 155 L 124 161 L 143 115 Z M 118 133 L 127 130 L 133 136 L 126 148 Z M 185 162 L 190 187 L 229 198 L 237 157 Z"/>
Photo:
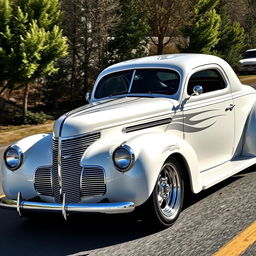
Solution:
<path fill-rule="evenodd" d="M 239 74 L 256 73 L 256 49 L 247 50 L 244 58 L 238 63 Z"/>

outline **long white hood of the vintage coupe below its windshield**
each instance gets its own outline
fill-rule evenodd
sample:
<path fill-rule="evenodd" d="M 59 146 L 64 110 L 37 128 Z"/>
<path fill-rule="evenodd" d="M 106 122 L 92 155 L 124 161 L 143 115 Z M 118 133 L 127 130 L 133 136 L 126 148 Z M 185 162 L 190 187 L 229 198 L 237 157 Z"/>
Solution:
<path fill-rule="evenodd" d="M 168 98 L 124 97 L 94 102 L 61 116 L 54 124 L 54 137 L 72 137 L 162 117 L 172 117 L 178 102 Z"/>

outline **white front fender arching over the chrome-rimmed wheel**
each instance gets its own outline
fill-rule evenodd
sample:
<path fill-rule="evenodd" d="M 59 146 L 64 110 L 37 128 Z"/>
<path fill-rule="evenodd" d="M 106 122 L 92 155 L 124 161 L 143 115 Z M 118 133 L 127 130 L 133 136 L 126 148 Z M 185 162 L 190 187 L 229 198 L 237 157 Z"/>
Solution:
<path fill-rule="evenodd" d="M 170 133 L 152 133 L 134 137 L 128 140 L 127 144 L 135 150 L 138 161 L 145 167 L 150 194 L 164 162 L 175 153 L 180 154 L 186 161 L 192 191 L 194 193 L 201 191 L 202 184 L 196 153 L 182 138 Z"/>

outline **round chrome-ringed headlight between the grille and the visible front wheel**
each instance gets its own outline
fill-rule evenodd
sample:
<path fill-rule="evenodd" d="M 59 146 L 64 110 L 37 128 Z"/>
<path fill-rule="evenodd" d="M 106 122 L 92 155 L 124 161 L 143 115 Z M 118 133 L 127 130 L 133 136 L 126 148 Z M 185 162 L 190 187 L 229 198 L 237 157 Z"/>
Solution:
<path fill-rule="evenodd" d="M 128 171 L 133 166 L 134 160 L 134 153 L 127 145 L 118 147 L 113 153 L 113 162 L 118 171 Z"/>

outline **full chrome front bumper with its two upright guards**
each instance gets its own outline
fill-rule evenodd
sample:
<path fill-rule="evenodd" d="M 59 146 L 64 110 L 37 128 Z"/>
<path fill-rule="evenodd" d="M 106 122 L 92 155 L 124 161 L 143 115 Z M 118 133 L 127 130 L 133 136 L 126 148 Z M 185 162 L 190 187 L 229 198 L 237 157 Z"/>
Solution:
<path fill-rule="evenodd" d="M 62 203 L 46 203 L 22 200 L 21 193 L 18 193 L 17 200 L 0 198 L 0 207 L 16 209 L 20 216 L 22 210 L 39 212 L 60 212 L 64 219 L 69 213 L 106 213 L 119 214 L 129 213 L 135 209 L 133 202 L 112 202 L 112 203 L 66 203 L 65 194 Z"/>

